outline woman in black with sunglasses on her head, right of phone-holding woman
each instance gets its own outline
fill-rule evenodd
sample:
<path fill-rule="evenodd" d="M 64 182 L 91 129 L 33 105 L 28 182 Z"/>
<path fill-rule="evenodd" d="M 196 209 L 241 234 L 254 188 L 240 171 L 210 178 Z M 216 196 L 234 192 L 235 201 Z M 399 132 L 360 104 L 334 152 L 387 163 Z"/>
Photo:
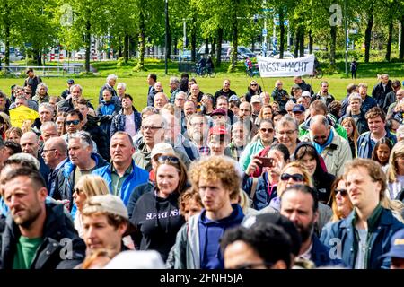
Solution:
<path fill-rule="evenodd" d="M 313 185 L 319 192 L 319 201 L 327 204 L 335 177 L 324 171 L 325 164 L 321 165 L 321 158 L 312 143 L 299 143 L 294 151 L 294 160 L 300 161 L 303 167 L 309 171 Z"/>

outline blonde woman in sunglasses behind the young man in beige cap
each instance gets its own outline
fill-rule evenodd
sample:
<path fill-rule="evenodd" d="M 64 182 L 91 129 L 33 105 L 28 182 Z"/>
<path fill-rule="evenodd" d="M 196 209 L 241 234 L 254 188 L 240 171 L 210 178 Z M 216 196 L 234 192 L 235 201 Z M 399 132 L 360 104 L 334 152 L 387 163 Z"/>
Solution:
<path fill-rule="evenodd" d="M 104 178 L 96 175 L 83 175 L 75 184 L 73 200 L 77 207 L 75 213 L 75 229 L 79 236 L 83 238 L 82 210 L 85 201 L 92 196 L 102 196 L 110 194 L 110 188 Z"/>

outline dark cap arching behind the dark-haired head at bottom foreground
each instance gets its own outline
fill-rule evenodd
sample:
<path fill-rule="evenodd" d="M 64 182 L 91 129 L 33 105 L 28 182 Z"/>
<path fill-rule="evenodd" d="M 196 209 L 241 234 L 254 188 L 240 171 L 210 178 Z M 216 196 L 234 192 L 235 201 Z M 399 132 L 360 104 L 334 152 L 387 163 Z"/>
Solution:
<path fill-rule="evenodd" d="M 300 247 L 302 246 L 302 239 L 299 231 L 296 229 L 294 222 L 291 222 L 287 217 L 279 213 L 259 213 L 246 217 L 242 222 L 242 226 L 246 228 L 252 227 L 258 223 L 272 223 L 282 227 L 287 234 L 289 234 L 292 241 L 292 253 L 299 255 Z"/>

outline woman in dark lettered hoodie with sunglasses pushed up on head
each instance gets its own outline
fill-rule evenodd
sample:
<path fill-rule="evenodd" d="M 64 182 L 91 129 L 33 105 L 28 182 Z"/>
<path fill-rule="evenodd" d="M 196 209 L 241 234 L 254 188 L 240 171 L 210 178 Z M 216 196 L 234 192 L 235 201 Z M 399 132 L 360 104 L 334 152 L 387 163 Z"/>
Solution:
<path fill-rule="evenodd" d="M 135 244 L 140 250 L 156 250 L 167 260 L 178 230 L 185 219 L 180 214 L 179 197 L 187 189 L 187 170 L 180 159 L 165 153 L 155 169 L 155 187 L 140 196 L 130 221 L 140 230 Z"/>

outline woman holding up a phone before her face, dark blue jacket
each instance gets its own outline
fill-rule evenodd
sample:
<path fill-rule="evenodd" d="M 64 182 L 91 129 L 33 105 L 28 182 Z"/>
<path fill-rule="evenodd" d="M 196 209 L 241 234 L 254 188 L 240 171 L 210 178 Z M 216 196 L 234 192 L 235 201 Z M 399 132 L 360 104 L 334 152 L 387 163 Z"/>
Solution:
<path fill-rule="evenodd" d="M 259 155 L 253 156 L 242 180 L 242 189 L 250 195 L 252 208 L 257 210 L 265 208 L 277 197 L 280 170 L 289 161 L 290 154 L 284 144 L 274 143 Z M 263 171 L 259 178 L 252 176 L 256 170 Z"/>

